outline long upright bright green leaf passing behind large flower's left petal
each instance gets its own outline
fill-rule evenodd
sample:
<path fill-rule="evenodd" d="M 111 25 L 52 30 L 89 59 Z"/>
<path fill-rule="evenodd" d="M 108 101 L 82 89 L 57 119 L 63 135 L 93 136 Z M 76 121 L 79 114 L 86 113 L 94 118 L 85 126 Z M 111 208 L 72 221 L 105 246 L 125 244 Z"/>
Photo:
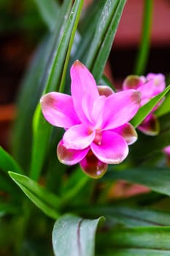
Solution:
<path fill-rule="evenodd" d="M 66 67 L 68 65 L 77 24 L 80 19 L 82 3 L 82 0 L 74 1 L 69 19 L 63 29 L 63 36 L 61 37 L 58 48 L 54 52 L 53 61 L 48 69 L 47 83 L 44 93 L 55 91 L 56 89 L 63 91 Z M 47 153 L 51 130 L 52 127 L 45 121 L 38 105 L 34 116 L 34 144 L 31 161 L 31 178 L 34 178 L 35 180 L 39 177 L 43 162 L 45 161 L 45 154 Z"/>

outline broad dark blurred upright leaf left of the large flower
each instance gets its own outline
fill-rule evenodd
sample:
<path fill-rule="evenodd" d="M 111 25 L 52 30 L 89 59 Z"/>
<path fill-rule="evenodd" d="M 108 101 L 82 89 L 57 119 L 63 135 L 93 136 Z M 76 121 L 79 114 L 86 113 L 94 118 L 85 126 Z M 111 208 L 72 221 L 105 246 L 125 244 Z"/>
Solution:
<path fill-rule="evenodd" d="M 12 151 L 24 170 L 30 170 L 32 144 L 32 118 L 45 88 L 50 64 L 61 39 L 61 31 L 70 12 L 70 1 L 63 1 L 55 30 L 48 34 L 36 49 L 18 95 L 18 116 L 12 132 Z"/>

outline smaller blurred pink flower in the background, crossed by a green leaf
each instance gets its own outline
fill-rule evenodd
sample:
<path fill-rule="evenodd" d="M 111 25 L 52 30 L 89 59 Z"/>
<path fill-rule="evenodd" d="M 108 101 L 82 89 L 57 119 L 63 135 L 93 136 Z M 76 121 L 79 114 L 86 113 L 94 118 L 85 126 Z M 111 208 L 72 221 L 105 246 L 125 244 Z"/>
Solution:
<path fill-rule="evenodd" d="M 136 89 L 141 92 L 141 105 L 160 94 L 166 87 L 165 77 L 162 74 L 150 73 L 146 77 L 129 75 L 123 82 L 123 91 L 127 89 Z M 157 135 L 159 131 L 158 119 L 154 115 L 154 111 L 158 109 L 162 101 L 152 109 L 152 112 L 142 121 L 138 129 L 146 135 Z"/>

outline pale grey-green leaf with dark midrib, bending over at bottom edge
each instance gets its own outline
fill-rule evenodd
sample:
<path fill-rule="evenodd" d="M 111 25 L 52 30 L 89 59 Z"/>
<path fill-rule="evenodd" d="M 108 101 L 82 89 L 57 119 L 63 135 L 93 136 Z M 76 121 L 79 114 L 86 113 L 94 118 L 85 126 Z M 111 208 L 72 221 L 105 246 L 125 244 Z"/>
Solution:
<path fill-rule="evenodd" d="M 53 250 L 57 256 L 93 256 L 98 222 L 66 214 L 55 222 Z"/>

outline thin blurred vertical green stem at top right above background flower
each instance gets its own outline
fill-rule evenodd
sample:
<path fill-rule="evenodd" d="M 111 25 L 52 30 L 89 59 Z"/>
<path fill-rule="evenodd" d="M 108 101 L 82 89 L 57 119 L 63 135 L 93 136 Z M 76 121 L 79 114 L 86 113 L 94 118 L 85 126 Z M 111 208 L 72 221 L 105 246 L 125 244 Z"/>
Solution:
<path fill-rule="evenodd" d="M 152 5 L 152 0 L 144 0 L 142 37 L 134 68 L 134 74 L 136 75 L 142 75 L 147 64 L 147 57 L 150 49 L 150 31 L 152 27 Z"/>

